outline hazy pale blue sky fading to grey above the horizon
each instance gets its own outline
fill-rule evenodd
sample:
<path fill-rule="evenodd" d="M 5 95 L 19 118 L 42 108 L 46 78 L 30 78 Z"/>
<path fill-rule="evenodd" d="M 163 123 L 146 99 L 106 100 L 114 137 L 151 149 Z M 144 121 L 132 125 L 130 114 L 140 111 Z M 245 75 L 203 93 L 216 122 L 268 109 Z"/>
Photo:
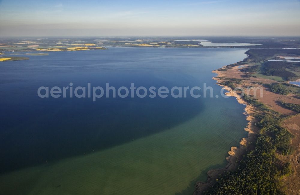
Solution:
<path fill-rule="evenodd" d="M 0 36 L 300 36 L 300 0 L 0 0 Z"/>

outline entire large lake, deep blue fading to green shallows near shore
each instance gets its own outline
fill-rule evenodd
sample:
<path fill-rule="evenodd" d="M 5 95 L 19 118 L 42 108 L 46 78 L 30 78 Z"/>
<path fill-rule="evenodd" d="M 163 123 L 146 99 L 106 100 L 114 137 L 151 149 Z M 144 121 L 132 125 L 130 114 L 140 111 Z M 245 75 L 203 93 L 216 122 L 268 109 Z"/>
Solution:
<path fill-rule="evenodd" d="M 221 97 L 211 79 L 245 51 L 115 47 L 1 62 L 1 194 L 191 194 L 247 136 L 245 106 Z M 70 82 L 147 89 L 207 83 L 214 91 L 95 102 L 38 97 L 40 86 Z"/>

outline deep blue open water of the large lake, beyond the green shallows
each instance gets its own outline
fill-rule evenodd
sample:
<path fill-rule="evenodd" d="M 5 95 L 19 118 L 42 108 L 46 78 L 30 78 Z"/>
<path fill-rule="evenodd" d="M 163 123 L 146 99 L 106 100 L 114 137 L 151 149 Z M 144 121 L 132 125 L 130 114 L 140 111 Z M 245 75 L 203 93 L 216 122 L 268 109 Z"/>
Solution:
<path fill-rule="evenodd" d="M 195 116 L 203 135 L 246 135 L 244 106 L 220 96 L 212 70 L 242 60 L 238 48 L 109 48 L 49 52 L 0 64 L 0 173 L 101 151 L 178 126 Z M 7 55 L 9 56 L 9 55 Z M 15 55 L 14 55 L 15 56 Z M 23 56 L 23 55 L 22 55 Z M 40 86 L 200 86 L 214 98 L 40 98 Z M 201 91 L 200 91 L 201 94 Z M 222 121 L 218 121 L 222 120 Z M 207 124 L 209 123 L 209 125 Z M 203 124 L 203 126 L 201 126 Z M 204 137 L 204 136 L 203 136 Z M 232 138 L 233 141 L 230 141 Z M 201 136 L 199 136 L 201 141 Z M 216 140 L 217 142 L 218 140 Z M 219 149 L 218 149 L 219 150 Z M 209 151 L 208 151 L 209 152 Z M 223 162 L 220 162 L 223 163 Z"/>

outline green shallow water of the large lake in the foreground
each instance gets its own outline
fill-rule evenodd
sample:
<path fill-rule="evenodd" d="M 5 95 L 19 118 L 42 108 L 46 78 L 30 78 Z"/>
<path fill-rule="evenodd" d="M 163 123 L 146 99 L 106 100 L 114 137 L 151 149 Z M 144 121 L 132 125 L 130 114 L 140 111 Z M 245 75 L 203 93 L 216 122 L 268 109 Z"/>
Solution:
<path fill-rule="evenodd" d="M 2 175 L 0 189 L 4 194 L 191 194 L 195 180 L 205 181 L 206 171 L 225 166 L 226 151 L 245 135 L 215 129 L 214 121 L 224 123 L 227 117 L 207 118 L 201 128 L 211 131 L 203 134 L 203 117 L 107 150 Z"/>

